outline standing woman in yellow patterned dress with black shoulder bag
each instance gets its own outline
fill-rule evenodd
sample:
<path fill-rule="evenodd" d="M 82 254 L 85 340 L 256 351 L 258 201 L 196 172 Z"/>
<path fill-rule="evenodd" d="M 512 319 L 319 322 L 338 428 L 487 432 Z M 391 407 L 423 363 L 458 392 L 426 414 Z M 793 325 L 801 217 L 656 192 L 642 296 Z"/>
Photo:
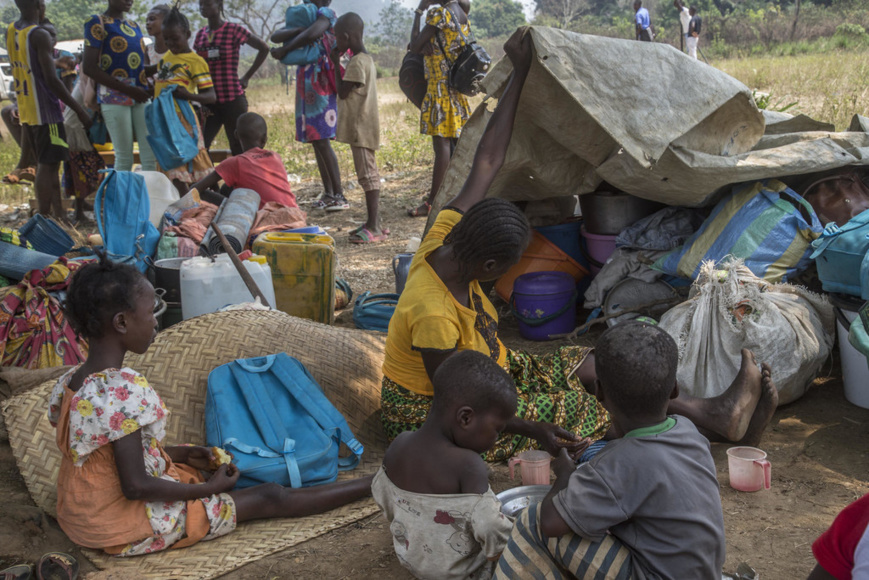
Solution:
<path fill-rule="evenodd" d="M 433 5 L 437 6 L 428 10 L 420 30 L 423 13 Z M 428 89 L 422 102 L 420 133 L 431 135 L 435 160 L 431 191 L 422 205 L 407 210 L 411 217 L 428 215 L 450 164 L 450 141 L 458 139 L 470 117 L 468 100 L 447 82 L 450 67 L 470 34 L 468 15 L 457 0 L 420 0 L 410 32 L 410 50 L 424 55 Z"/>

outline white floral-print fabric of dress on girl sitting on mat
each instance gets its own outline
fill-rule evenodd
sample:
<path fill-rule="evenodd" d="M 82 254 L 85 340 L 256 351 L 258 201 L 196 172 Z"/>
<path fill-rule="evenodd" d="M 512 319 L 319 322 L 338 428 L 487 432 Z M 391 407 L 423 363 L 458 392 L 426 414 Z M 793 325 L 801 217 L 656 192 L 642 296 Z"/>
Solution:
<path fill-rule="evenodd" d="M 75 467 L 83 467 L 96 450 L 141 430 L 145 471 L 152 477 L 176 481 L 168 473 L 173 464 L 167 461 L 168 456 L 160 443 L 166 434 L 168 411 L 145 377 L 130 368 L 107 369 L 89 375 L 78 391 L 71 391 L 69 381 L 75 370 L 58 380 L 49 402 L 48 419 L 55 427 L 61 423 L 64 410 L 69 413 L 68 449 L 61 449 L 64 460 L 68 458 Z M 64 397 L 72 397 L 68 406 L 63 404 Z M 86 470 L 82 470 L 84 472 Z M 61 469 L 61 476 L 63 473 Z M 95 487 L 98 485 L 95 482 Z M 59 495 L 61 487 L 59 484 Z M 70 501 L 73 499 L 69 498 Z M 223 536 L 235 529 L 235 504 L 228 494 L 212 495 L 198 501 L 205 507 L 210 527 L 202 539 Z M 122 546 L 117 552 L 119 556 L 137 556 L 164 550 L 187 534 L 188 502 L 143 503 L 153 535 Z M 106 512 L 94 514 L 94 518 L 112 518 L 110 508 L 113 505 L 109 502 Z M 58 519 L 63 523 L 60 511 L 58 515 L 61 517 Z"/>

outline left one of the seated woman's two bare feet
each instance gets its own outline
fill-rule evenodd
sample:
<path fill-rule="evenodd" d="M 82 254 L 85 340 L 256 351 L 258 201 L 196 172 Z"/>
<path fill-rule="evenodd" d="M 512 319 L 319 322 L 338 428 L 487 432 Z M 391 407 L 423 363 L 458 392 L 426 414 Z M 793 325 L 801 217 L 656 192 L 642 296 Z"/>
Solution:
<path fill-rule="evenodd" d="M 761 372 L 754 354 L 742 349 L 742 364 L 730 387 L 712 399 L 706 399 L 707 428 L 728 441 L 745 437 L 761 396 Z"/>

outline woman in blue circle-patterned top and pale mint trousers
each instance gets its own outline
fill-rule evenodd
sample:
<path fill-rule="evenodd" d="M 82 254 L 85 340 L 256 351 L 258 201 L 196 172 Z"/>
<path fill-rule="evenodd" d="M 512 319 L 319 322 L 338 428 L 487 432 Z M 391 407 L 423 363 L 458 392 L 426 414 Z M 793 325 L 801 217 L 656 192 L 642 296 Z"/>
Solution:
<path fill-rule="evenodd" d="M 133 168 L 133 142 L 139 143 L 142 169 L 157 168 L 148 144 L 145 105 L 151 98 L 145 76 L 145 42 L 142 30 L 125 14 L 133 0 L 109 0 L 101 15 L 84 25 L 82 70 L 98 85 L 97 103 L 106 121 L 115 150 L 115 169 Z"/>

